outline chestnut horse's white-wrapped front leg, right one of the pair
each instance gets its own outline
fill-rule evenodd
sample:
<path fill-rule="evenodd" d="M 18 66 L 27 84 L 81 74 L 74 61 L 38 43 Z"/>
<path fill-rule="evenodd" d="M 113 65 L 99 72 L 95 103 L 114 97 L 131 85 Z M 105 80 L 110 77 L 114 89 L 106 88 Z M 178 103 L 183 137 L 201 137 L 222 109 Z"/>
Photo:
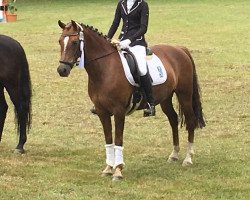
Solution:
<path fill-rule="evenodd" d="M 125 124 L 125 112 L 123 114 L 115 114 L 115 172 L 113 174 L 113 180 L 120 180 L 123 178 L 122 169 L 124 166 L 123 161 L 123 131 Z"/>

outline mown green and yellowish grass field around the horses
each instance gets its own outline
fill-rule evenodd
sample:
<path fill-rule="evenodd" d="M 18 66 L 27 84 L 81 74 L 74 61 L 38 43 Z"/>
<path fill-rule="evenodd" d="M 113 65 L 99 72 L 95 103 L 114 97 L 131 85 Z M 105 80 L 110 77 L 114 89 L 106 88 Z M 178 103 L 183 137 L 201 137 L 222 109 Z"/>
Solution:
<path fill-rule="evenodd" d="M 141 111 L 127 117 L 121 182 L 100 177 L 104 137 L 89 112 L 86 72 L 75 69 L 68 78 L 56 72 L 57 21 L 74 19 L 106 33 L 116 3 L 23 0 L 17 2 L 18 21 L 0 24 L 1 34 L 23 45 L 33 84 L 33 124 L 22 156 L 13 154 L 17 136 L 9 103 L 0 199 L 249 199 L 249 0 L 148 0 L 149 44 L 183 45 L 192 52 L 207 127 L 196 131 L 194 165 L 183 168 L 187 134 L 180 130 L 180 161 L 167 163 L 172 135 L 160 107 L 155 118 L 143 118 Z"/>

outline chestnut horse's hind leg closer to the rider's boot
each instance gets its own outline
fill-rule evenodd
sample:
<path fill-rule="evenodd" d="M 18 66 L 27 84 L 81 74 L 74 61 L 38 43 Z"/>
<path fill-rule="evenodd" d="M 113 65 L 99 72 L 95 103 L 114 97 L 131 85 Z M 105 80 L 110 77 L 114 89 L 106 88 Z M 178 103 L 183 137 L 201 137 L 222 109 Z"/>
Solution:
<path fill-rule="evenodd" d="M 168 97 L 167 101 L 161 103 L 161 109 L 168 117 L 173 134 L 173 151 L 168 158 L 168 162 L 177 161 L 179 159 L 178 153 L 180 151 L 178 134 L 178 115 L 174 110 L 172 97 L 173 94 Z"/>

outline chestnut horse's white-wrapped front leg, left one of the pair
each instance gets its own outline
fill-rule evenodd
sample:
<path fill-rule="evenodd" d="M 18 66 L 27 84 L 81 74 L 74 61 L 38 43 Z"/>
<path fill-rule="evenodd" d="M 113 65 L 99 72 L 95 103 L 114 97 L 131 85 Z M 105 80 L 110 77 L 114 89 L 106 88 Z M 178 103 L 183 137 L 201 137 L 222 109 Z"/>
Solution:
<path fill-rule="evenodd" d="M 102 171 L 102 176 L 112 176 L 112 170 L 115 164 L 115 149 L 112 138 L 112 124 L 109 114 L 98 114 L 102 123 L 103 132 L 105 136 L 106 149 L 106 168 Z"/>

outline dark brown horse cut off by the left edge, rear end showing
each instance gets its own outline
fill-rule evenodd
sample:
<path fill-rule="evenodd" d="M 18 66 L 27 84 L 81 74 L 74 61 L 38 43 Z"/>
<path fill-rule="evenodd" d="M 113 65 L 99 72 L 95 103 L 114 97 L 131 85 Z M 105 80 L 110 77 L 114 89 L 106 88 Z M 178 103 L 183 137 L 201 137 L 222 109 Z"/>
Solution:
<path fill-rule="evenodd" d="M 31 124 L 31 81 L 29 66 L 22 46 L 16 40 L 0 35 L 0 141 L 8 105 L 4 96 L 7 90 L 15 106 L 19 142 L 16 152 L 24 153 L 26 130 Z"/>

